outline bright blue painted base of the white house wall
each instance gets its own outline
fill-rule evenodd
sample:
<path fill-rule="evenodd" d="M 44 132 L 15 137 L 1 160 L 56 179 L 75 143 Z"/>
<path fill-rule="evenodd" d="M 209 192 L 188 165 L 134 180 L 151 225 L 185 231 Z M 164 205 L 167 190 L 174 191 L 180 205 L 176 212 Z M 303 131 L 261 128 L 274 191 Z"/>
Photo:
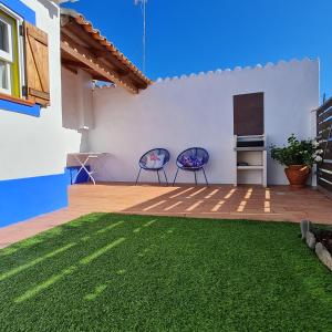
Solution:
<path fill-rule="evenodd" d="M 65 174 L 0 180 L 0 227 L 66 206 Z"/>

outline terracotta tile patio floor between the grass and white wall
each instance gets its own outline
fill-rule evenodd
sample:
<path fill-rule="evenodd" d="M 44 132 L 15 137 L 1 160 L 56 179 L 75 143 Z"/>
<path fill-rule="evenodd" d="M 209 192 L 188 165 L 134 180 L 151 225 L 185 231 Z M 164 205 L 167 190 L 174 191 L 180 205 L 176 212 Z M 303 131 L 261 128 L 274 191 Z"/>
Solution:
<path fill-rule="evenodd" d="M 90 212 L 123 212 L 332 225 L 332 200 L 318 190 L 287 186 L 76 185 L 69 207 L 0 229 L 0 248 Z"/>

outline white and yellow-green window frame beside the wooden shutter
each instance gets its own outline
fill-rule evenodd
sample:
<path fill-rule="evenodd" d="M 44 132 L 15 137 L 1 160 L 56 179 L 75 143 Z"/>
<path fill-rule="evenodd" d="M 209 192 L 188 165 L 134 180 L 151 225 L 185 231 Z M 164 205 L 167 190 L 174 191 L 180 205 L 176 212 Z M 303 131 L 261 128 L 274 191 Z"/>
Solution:
<path fill-rule="evenodd" d="M 17 27 L 13 27 L 13 24 L 4 17 L 1 15 L 1 13 L 4 13 L 7 15 L 9 15 L 10 18 L 12 18 L 15 22 L 17 22 Z M 4 52 L 0 50 L 0 60 L 2 60 L 4 63 L 7 63 L 7 77 L 9 81 L 9 89 L 1 89 L 0 87 L 0 92 L 8 94 L 11 97 L 25 97 L 23 96 L 23 86 L 25 85 L 25 60 L 24 60 L 24 38 L 22 35 L 22 33 L 20 33 L 20 31 L 22 31 L 23 28 L 23 18 L 21 18 L 20 15 L 18 15 L 15 12 L 13 12 L 12 10 L 10 10 L 7 6 L 4 6 L 3 3 L 0 3 L 0 20 L 3 21 L 7 25 L 8 25 L 8 31 L 9 31 L 9 40 L 11 41 L 11 43 L 9 44 L 9 52 Z M 17 28 L 15 33 L 12 33 L 14 28 Z M 15 40 L 13 39 L 15 38 Z M 14 42 L 17 41 L 17 60 L 15 54 L 14 54 Z M 6 56 L 6 53 L 8 54 L 8 56 Z M 4 55 L 4 56 L 3 56 Z M 14 85 L 13 82 L 13 74 L 12 74 L 12 69 L 10 68 L 11 65 L 13 65 L 15 63 L 15 61 L 18 61 L 17 65 L 18 65 L 18 72 L 19 72 L 19 96 L 14 96 L 13 92 L 12 92 L 12 86 Z"/>

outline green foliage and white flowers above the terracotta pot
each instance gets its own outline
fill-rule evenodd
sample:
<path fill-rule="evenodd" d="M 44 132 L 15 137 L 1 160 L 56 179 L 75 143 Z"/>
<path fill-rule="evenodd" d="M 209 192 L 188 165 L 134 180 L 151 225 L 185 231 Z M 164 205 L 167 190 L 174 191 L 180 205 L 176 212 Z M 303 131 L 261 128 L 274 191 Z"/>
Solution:
<path fill-rule="evenodd" d="M 319 148 L 320 144 L 312 139 L 299 141 L 294 134 L 288 139 L 283 147 L 270 146 L 271 157 L 281 165 L 307 165 L 312 167 L 313 164 L 322 162 L 323 151 Z"/>

